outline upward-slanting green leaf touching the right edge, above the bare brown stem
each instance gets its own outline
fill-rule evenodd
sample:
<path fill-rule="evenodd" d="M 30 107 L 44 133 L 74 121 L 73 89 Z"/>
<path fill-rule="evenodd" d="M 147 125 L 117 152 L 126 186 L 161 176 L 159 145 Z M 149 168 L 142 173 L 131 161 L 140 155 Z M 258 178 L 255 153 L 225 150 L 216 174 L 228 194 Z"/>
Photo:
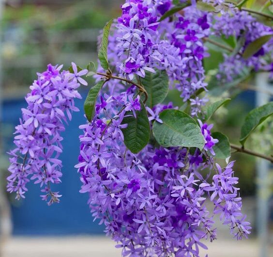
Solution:
<path fill-rule="evenodd" d="M 244 145 L 250 133 L 273 114 L 273 102 L 260 106 L 247 114 L 241 129 L 240 143 Z"/>

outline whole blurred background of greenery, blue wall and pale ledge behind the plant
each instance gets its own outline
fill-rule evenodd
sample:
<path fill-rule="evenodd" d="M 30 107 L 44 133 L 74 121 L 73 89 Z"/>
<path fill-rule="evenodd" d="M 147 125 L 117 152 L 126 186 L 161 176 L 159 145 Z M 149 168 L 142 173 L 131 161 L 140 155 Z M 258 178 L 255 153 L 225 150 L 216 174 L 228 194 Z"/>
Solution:
<path fill-rule="evenodd" d="M 79 193 L 80 181 L 74 165 L 78 156 L 78 126 L 85 122 L 83 102 L 63 133 L 61 203 L 47 207 L 40 199 L 39 186 L 29 184 L 26 199 L 15 201 L 5 193 L 8 156 L 13 147 L 14 126 L 26 106 L 24 96 L 36 72 L 48 63 L 71 62 L 86 66 L 96 61 L 97 36 L 112 17 L 120 15 L 122 0 L 0 0 L 0 257 L 118 257 L 115 243 L 104 236 L 104 227 L 92 221 L 87 196 Z M 215 58 L 218 56 L 215 54 Z M 217 58 L 218 58 L 217 57 Z M 208 69 L 213 63 L 206 61 Z M 218 58 L 221 61 L 221 56 Z M 259 83 L 257 83 L 259 81 Z M 92 85 L 92 79 L 89 79 Z M 267 74 L 247 80 L 251 90 L 240 90 L 236 98 L 214 116 L 221 129 L 238 143 L 244 116 L 273 95 Z M 82 89 L 82 96 L 87 95 Z M 169 100 L 175 99 L 170 92 Z M 238 115 L 240 112 L 240 115 Z M 262 124 L 248 147 L 273 152 L 273 120 Z M 261 138 L 263 141 L 261 142 Z M 253 157 L 234 154 L 240 178 L 244 213 L 252 222 L 250 240 L 235 241 L 219 222 L 218 240 L 209 244 L 210 257 L 273 256 L 273 173 L 272 165 Z M 213 206 L 211 206 L 213 209 Z M 218 225 L 218 224 L 217 224 Z M 224 248 L 225 247 L 225 248 Z M 205 256 L 205 254 L 204 254 Z"/>

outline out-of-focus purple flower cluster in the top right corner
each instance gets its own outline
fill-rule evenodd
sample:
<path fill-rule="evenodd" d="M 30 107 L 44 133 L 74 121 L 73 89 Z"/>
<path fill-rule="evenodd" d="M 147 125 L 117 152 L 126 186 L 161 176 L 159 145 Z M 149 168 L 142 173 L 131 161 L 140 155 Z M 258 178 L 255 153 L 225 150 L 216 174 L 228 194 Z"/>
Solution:
<path fill-rule="evenodd" d="M 273 38 L 263 45 L 253 56 L 248 59 L 242 57 L 244 49 L 254 40 L 264 35 L 273 34 L 273 29 L 259 23 L 247 12 L 234 11 L 222 16 L 215 17 L 213 32 L 226 37 L 235 36 L 237 39 L 243 37 L 245 43 L 238 50 L 237 54 L 224 55 L 225 61 L 219 66 L 217 78 L 222 81 L 232 81 L 238 77 L 243 69 L 254 69 L 271 71 L 269 68 L 273 58 Z M 266 58 L 268 56 L 269 58 Z M 268 61 L 269 60 L 269 61 Z M 272 72 L 272 71 L 271 71 Z"/>

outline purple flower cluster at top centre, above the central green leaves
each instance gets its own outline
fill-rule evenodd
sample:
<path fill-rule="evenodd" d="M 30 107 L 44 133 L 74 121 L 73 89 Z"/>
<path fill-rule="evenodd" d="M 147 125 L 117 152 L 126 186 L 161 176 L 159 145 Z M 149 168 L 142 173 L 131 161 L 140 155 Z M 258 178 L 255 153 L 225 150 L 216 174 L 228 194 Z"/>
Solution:
<path fill-rule="evenodd" d="M 208 35 L 207 15 L 195 7 L 175 14 L 172 21 L 159 22 L 172 7 L 170 0 L 126 0 L 122 16 L 109 38 L 109 59 L 122 77 L 145 77 L 145 71 L 167 70 L 184 101 L 206 88 L 202 60 L 206 54 L 202 38 Z M 164 37 L 162 36 L 164 34 Z M 202 99 L 197 103 L 203 105 Z M 200 108 L 193 106 L 197 115 Z"/>

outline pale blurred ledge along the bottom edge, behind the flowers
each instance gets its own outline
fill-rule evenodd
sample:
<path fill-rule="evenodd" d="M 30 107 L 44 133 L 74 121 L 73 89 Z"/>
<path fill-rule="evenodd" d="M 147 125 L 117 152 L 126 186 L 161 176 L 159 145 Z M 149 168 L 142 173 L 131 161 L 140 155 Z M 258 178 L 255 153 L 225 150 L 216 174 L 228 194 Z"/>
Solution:
<path fill-rule="evenodd" d="M 201 256 L 258 257 L 258 241 L 219 239 L 208 244 Z M 270 249 L 273 256 L 273 247 Z M 12 238 L 2 257 L 121 257 L 121 249 L 105 237 Z"/>

